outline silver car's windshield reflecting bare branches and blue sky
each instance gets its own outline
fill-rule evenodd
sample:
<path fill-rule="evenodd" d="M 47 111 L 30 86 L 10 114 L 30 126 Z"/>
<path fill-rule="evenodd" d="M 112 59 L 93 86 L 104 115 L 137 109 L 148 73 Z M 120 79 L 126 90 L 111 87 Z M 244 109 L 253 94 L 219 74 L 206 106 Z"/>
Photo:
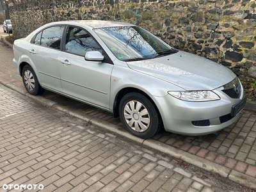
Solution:
<path fill-rule="evenodd" d="M 138 26 L 99 28 L 94 31 L 122 61 L 147 60 L 177 52 Z"/>

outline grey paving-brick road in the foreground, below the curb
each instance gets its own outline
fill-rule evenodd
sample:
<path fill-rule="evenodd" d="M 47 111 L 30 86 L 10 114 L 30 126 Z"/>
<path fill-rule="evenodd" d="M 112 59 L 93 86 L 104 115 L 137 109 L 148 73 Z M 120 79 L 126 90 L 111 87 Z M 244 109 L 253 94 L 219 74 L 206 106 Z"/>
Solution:
<path fill-rule="evenodd" d="M 0 84 L 0 191 L 252 191 Z"/>

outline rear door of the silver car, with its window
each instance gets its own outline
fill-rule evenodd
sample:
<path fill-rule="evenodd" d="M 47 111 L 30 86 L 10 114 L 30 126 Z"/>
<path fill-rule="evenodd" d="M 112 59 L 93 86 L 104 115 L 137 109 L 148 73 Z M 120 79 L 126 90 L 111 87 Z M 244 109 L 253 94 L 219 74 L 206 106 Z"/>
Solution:
<path fill-rule="evenodd" d="M 51 26 L 40 31 L 28 49 L 41 86 L 62 92 L 59 57 L 61 37 L 65 26 Z"/>

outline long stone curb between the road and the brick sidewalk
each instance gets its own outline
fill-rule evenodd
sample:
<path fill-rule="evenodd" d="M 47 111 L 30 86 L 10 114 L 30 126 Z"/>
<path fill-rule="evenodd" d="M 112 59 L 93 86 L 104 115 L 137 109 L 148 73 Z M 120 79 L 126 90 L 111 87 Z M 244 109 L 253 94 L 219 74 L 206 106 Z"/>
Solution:
<path fill-rule="evenodd" d="M 231 168 L 227 168 L 220 164 L 213 163 L 213 162 L 211 162 L 207 159 L 204 159 L 202 157 L 194 156 L 193 154 L 189 154 L 188 152 L 185 152 L 178 148 L 172 147 L 170 145 L 166 145 L 166 144 L 161 143 L 156 140 L 152 140 L 152 139 L 143 140 L 141 138 L 137 138 L 136 136 L 132 136 L 131 134 L 129 134 L 129 132 L 125 131 L 123 127 L 111 124 L 109 122 L 100 120 L 98 118 L 94 118 L 93 116 L 86 115 L 84 113 L 79 113 L 79 112 L 69 109 L 67 107 L 60 106 L 57 102 L 53 102 L 52 100 L 45 99 L 42 96 L 30 95 L 24 89 L 20 88 L 19 86 L 16 86 L 15 84 L 10 83 L 10 82 L 6 82 L 6 80 L 2 79 L 1 77 L 0 77 L 0 83 L 8 88 L 11 88 L 12 90 L 15 90 L 16 92 L 21 93 L 22 95 L 26 95 L 27 97 L 29 97 L 33 100 L 36 100 L 36 101 L 40 102 L 41 104 L 44 104 L 45 106 L 48 106 L 49 108 L 53 108 L 53 109 L 56 109 L 63 113 L 66 113 L 68 115 L 75 116 L 76 118 L 79 118 L 81 120 L 89 122 L 97 127 L 101 127 L 110 132 L 114 132 L 114 133 L 116 133 L 120 136 L 123 136 L 129 140 L 136 141 L 137 143 L 140 143 L 141 145 L 145 145 L 146 147 L 154 148 L 155 150 L 158 150 L 159 152 L 168 154 L 168 155 L 175 157 L 177 159 L 180 159 L 186 163 L 197 166 L 198 168 L 202 168 L 208 172 L 218 173 L 222 177 L 230 179 L 238 184 L 241 184 L 242 186 L 256 190 L 256 179 L 253 177 L 250 177 L 249 175 L 245 175 L 243 173 L 236 172 L 235 170 L 232 170 Z M 250 104 L 248 104 L 247 108 L 249 108 L 249 109 L 253 108 L 255 110 L 254 105 L 256 105 L 254 102 L 253 102 L 252 106 Z"/>

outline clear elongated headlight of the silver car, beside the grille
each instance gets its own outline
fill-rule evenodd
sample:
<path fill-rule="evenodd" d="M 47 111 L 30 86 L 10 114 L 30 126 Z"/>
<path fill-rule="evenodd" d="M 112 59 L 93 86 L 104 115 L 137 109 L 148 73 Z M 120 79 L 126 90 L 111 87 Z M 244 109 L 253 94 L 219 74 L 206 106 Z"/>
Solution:
<path fill-rule="evenodd" d="M 173 97 L 186 101 L 210 101 L 220 100 L 220 97 L 212 91 L 168 92 Z"/>

